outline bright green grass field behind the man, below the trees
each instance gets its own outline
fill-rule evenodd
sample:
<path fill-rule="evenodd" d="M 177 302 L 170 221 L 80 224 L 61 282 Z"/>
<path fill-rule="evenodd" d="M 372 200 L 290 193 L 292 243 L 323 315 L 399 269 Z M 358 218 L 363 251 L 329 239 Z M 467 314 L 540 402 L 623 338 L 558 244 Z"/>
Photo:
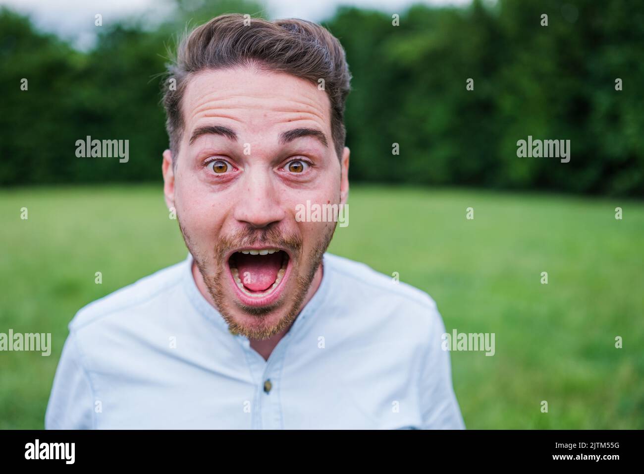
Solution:
<path fill-rule="evenodd" d="M 430 293 L 449 332 L 495 333 L 494 357 L 451 352 L 468 428 L 644 428 L 643 202 L 354 186 L 349 204 L 331 252 Z M 0 215 L 0 332 L 53 345 L 0 352 L 0 428 L 43 428 L 75 312 L 187 250 L 160 186 L 2 191 Z"/>

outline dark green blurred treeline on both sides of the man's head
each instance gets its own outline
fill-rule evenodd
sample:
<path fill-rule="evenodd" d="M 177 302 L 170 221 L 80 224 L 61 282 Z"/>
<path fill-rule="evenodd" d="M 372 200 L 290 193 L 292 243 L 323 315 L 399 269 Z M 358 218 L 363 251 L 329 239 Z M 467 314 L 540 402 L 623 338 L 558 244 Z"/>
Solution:
<path fill-rule="evenodd" d="M 176 5 L 155 28 L 102 27 L 89 52 L 0 10 L 0 184 L 159 179 L 167 136 L 158 83 L 177 35 L 222 12 L 265 14 L 238 1 Z M 475 0 L 400 13 L 400 26 L 390 14 L 346 7 L 325 22 L 354 77 L 346 109 L 354 181 L 644 196 L 644 8 Z M 75 157 L 86 135 L 129 139 L 128 164 Z M 571 140 L 570 163 L 517 157 L 516 141 L 528 135 Z"/>

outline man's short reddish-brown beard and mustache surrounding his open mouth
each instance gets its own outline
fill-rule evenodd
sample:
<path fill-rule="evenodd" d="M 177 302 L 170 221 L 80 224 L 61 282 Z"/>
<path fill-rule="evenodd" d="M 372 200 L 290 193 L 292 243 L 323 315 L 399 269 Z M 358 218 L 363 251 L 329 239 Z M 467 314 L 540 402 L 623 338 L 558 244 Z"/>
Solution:
<path fill-rule="evenodd" d="M 216 309 L 228 324 L 233 334 L 242 334 L 249 339 L 267 339 L 288 328 L 298 317 L 302 304 L 307 297 L 317 268 L 321 265 L 323 255 L 327 251 L 337 222 L 327 222 L 323 233 L 314 242 L 308 255 L 303 254 L 303 241 L 298 233 L 282 233 L 277 226 L 270 225 L 261 229 L 246 228 L 232 235 L 223 235 L 218 239 L 211 252 L 202 250 L 194 244 L 189 232 L 182 224 L 177 213 L 179 228 L 184 237 L 185 245 L 193 255 L 194 262 L 204 279 L 208 293 L 213 298 Z M 229 262 L 225 256 L 229 250 L 244 248 L 252 245 L 285 248 L 289 250 L 292 270 L 286 283 L 294 288 L 285 289 L 283 295 L 274 303 L 267 306 L 247 306 L 233 295 L 227 297 L 224 290 L 230 281 Z M 209 268 L 213 262 L 214 268 Z M 294 279 L 294 281 L 290 281 Z M 232 300 L 232 301 L 231 301 Z M 235 313 L 245 313 L 252 317 L 252 324 L 241 321 Z M 270 315 L 279 315 L 277 322 L 270 322 Z"/>

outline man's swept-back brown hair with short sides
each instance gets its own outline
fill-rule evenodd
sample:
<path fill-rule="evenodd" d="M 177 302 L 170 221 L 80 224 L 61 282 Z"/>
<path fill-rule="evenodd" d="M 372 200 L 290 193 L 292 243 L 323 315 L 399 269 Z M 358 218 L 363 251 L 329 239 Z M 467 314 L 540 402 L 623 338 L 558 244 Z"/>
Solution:
<path fill-rule="evenodd" d="M 182 97 L 191 75 L 202 70 L 234 68 L 256 64 L 265 70 L 284 72 L 318 84 L 331 103 L 331 133 L 341 159 L 345 146 L 345 101 L 350 91 L 351 74 L 345 50 L 330 32 L 320 25 L 301 19 L 267 21 L 244 15 L 214 17 L 198 26 L 181 41 L 176 60 L 168 64 L 164 81 L 166 129 L 173 157 L 178 155 L 184 128 Z M 169 79 L 175 79 L 171 90 Z M 176 159 L 173 159 L 176 163 Z"/>

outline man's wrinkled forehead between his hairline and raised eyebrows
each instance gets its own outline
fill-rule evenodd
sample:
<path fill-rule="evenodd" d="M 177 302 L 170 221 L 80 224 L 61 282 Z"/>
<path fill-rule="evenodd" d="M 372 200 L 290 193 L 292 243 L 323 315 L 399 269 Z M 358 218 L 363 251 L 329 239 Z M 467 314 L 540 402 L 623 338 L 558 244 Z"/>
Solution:
<path fill-rule="evenodd" d="M 185 133 L 223 123 L 241 133 L 317 126 L 330 137 L 330 101 L 316 84 L 282 72 L 244 66 L 189 79 L 182 101 Z"/>

